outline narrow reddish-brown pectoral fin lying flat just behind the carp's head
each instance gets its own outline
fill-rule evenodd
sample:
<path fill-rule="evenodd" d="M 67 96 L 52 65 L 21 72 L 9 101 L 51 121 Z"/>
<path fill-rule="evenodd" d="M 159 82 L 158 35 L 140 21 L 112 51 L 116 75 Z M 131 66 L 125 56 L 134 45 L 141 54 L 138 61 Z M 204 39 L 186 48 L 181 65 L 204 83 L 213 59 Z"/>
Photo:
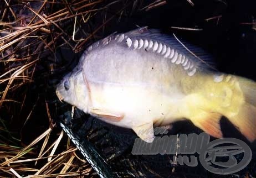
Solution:
<path fill-rule="evenodd" d="M 96 117 L 108 119 L 114 122 L 119 122 L 122 120 L 122 118 L 124 118 L 124 114 L 114 113 L 111 111 L 106 111 L 98 108 L 91 109 L 91 114 L 93 114 Z"/>

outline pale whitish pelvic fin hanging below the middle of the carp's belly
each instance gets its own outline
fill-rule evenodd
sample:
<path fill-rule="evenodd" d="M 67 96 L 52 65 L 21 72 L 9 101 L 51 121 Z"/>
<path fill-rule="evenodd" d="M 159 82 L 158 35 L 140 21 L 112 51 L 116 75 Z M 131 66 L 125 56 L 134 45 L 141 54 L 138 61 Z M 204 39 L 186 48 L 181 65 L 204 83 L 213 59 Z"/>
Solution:
<path fill-rule="evenodd" d="M 153 123 L 146 123 L 132 128 L 134 132 L 145 142 L 153 142 L 155 135 L 153 131 Z"/>

